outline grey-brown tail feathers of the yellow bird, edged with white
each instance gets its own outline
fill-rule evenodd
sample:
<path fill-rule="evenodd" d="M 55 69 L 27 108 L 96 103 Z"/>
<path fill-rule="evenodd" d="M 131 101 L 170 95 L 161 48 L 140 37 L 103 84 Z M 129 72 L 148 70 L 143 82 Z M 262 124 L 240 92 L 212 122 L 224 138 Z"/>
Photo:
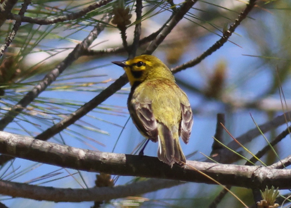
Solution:
<path fill-rule="evenodd" d="M 160 161 L 171 166 L 174 163 L 182 165 L 182 162 L 186 162 L 180 146 L 178 132 L 172 132 L 164 124 L 158 123 L 158 142 L 158 158 Z"/>

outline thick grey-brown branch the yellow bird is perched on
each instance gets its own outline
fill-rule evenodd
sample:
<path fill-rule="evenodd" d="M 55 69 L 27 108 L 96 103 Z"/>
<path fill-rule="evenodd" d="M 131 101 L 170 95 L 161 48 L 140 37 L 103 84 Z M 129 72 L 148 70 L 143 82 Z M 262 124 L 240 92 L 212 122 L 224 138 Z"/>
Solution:
<path fill-rule="evenodd" d="M 155 157 L 141 158 L 138 155 L 73 148 L 7 132 L 0 132 L 0 152 L 35 162 L 89 172 L 215 184 L 191 168 L 192 166 L 223 185 L 245 188 L 274 185 L 279 189 L 291 188 L 291 169 L 198 161 L 187 161 L 188 166 L 185 169 L 176 164 L 171 168 Z"/>

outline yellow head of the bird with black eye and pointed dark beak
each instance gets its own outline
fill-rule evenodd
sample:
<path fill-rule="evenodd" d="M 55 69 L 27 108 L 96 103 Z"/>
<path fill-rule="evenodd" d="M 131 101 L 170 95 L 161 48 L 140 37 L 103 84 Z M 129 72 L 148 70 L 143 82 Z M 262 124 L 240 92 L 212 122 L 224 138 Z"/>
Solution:
<path fill-rule="evenodd" d="M 151 55 L 141 55 L 127 61 L 112 61 L 112 63 L 123 67 L 130 85 L 155 78 L 175 80 L 170 69 L 157 57 Z"/>

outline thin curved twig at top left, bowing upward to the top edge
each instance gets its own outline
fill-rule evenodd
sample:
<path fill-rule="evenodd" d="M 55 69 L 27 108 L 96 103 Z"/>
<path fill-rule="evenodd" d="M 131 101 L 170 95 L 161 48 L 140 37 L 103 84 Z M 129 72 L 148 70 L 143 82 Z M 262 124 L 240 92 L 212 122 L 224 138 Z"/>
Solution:
<path fill-rule="evenodd" d="M 59 17 L 47 17 L 47 18 L 37 18 L 37 17 L 22 17 L 22 22 L 32 23 L 32 24 L 38 24 L 38 25 L 51 25 L 59 22 L 65 22 L 69 20 L 76 20 L 89 12 L 95 10 L 96 8 L 100 8 L 109 2 L 112 2 L 112 0 L 101 0 L 97 3 L 91 4 L 85 8 L 83 8 L 81 11 L 73 12 L 71 14 L 59 16 Z M 17 20 L 20 16 L 16 14 L 10 14 L 8 19 L 11 20 Z"/>

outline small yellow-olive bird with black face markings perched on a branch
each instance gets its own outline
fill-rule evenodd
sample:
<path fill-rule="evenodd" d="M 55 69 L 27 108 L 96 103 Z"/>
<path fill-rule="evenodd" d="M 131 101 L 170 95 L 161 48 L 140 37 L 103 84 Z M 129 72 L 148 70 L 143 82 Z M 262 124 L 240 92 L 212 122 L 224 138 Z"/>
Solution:
<path fill-rule="evenodd" d="M 158 142 L 158 158 L 173 165 L 186 162 L 179 136 L 188 143 L 193 124 L 191 106 L 170 69 L 157 57 L 141 55 L 113 61 L 123 67 L 131 85 L 127 107 L 143 136 Z"/>

